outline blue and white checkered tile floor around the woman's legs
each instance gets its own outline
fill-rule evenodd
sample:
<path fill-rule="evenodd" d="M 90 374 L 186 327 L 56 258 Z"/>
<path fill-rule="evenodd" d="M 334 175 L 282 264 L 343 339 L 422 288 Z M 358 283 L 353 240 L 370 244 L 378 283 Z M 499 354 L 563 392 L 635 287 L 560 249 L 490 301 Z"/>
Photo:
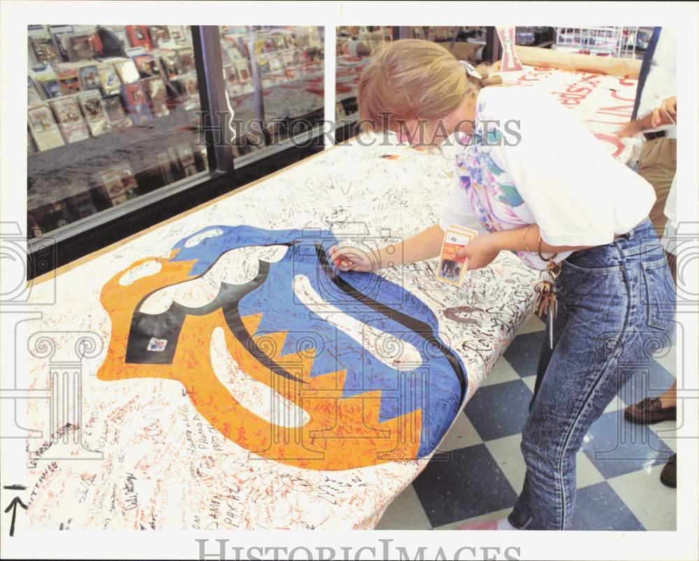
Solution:
<path fill-rule="evenodd" d="M 512 510 L 524 481 L 521 428 L 533 395 L 544 336 L 538 318 L 520 330 L 478 389 L 426 469 L 389 506 L 377 530 L 451 530 L 497 520 Z M 571 530 L 675 530 L 676 491 L 660 482 L 675 451 L 675 421 L 633 425 L 627 404 L 674 381 L 675 347 L 656 353 L 648 376 L 619 397 L 591 427 L 577 455 Z"/>

